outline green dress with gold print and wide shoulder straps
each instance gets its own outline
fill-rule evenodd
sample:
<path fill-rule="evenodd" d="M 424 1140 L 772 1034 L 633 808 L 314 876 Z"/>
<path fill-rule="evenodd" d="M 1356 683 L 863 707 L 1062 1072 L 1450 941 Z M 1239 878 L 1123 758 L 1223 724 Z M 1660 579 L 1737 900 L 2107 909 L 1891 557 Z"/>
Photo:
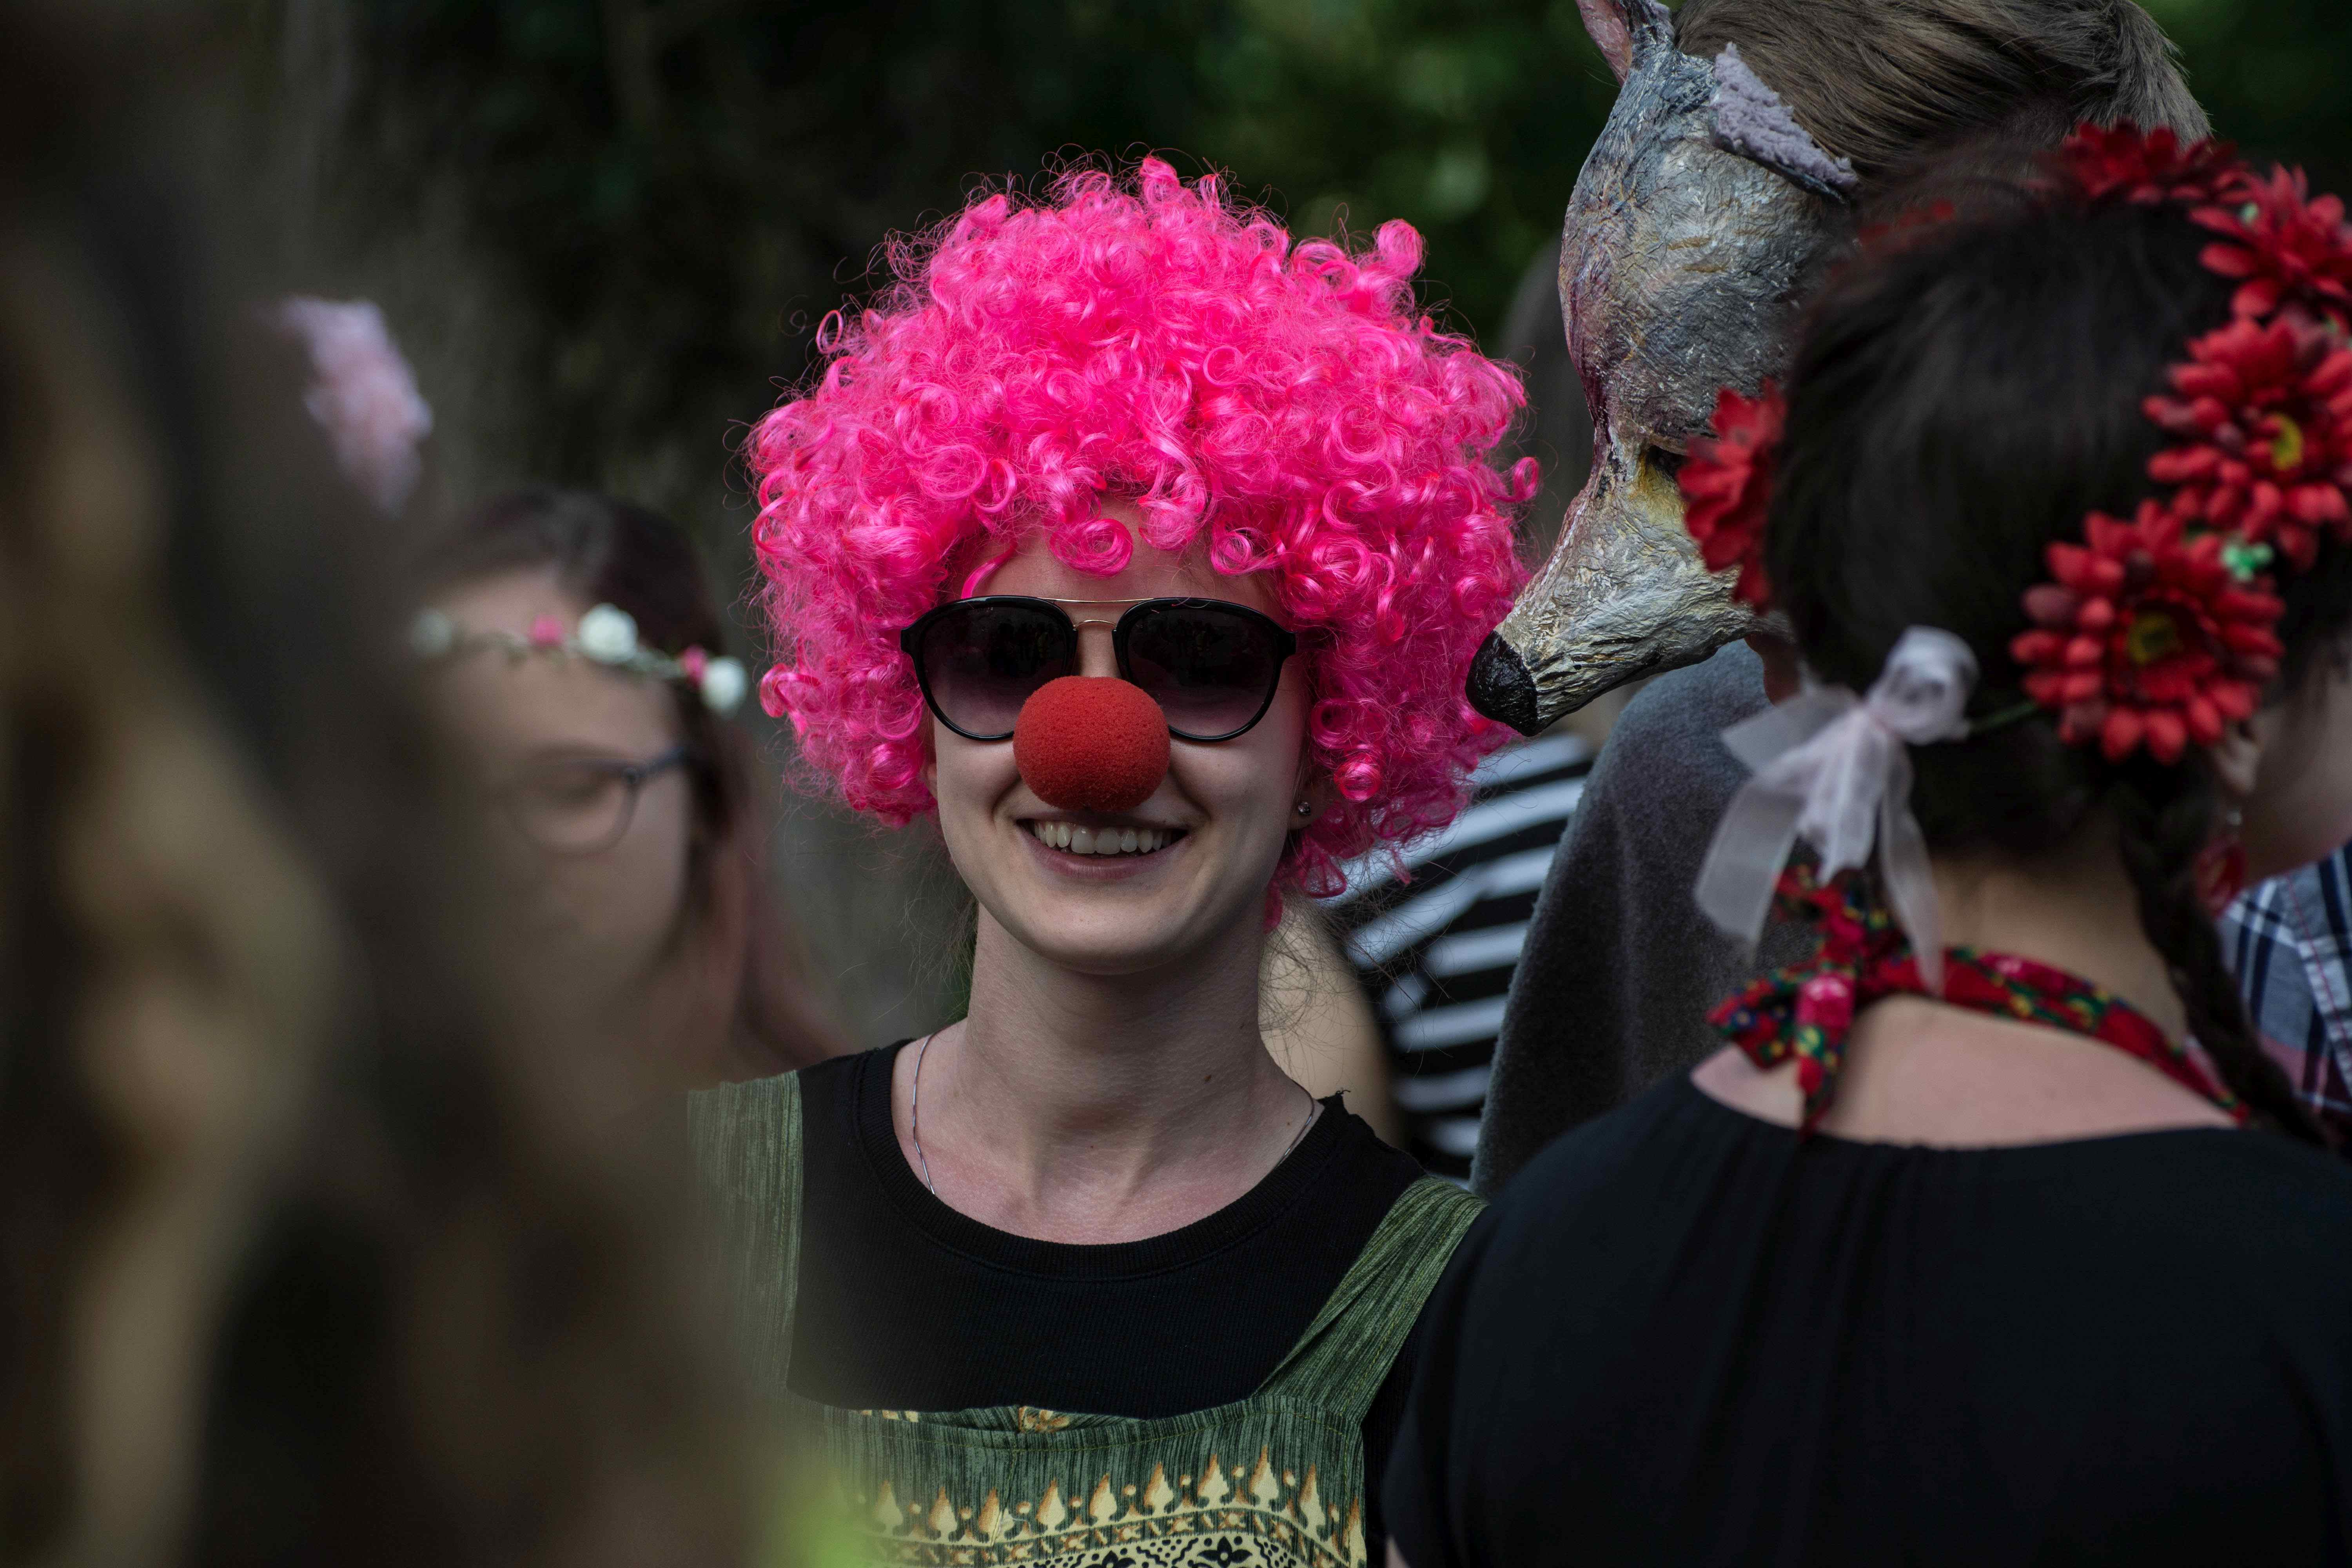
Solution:
<path fill-rule="evenodd" d="M 1421 1178 L 1240 1403 L 1127 1418 L 840 1410 L 786 1389 L 800 1269 L 800 1079 L 699 1093 L 696 1159 L 764 1392 L 833 1465 L 875 1563 L 1364 1568 L 1364 1413 L 1479 1199 Z M 1247 1291 L 1235 1288 L 1247 1309 Z"/>

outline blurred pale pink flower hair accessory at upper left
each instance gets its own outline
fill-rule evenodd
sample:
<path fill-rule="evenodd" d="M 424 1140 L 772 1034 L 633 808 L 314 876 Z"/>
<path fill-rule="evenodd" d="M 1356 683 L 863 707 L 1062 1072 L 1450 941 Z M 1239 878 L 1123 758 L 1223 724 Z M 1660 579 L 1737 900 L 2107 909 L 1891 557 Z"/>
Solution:
<path fill-rule="evenodd" d="M 400 515 L 423 475 L 419 447 L 433 433 L 433 409 L 416 390 L 383 313 L 365 301 L 280 301 L 278 324 L 310 350 L 303 407 L 320 423 L 360 494 L 386 517 Z"/>

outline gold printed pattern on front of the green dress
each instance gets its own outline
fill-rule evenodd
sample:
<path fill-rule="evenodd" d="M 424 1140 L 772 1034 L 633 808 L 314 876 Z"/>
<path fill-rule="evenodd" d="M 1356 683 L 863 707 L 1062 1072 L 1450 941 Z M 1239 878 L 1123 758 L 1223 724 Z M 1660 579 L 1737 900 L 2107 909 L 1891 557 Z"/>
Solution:
<path fill-rule="evenodd" d="M 1211 1453 L 1197 1483 L 1178 1476 L 1171 1486 L 1162 1462 L 1141 1483 L 1098 1472 L 1091 1486 L 1065 1493 L 1054 1479 L 1035 1502 L 1009 1509 L 997 1488 L 974 1509 L 946 1486 L 929 1509 L 901 1509 L 884 1481 L 866 1516 L 873 1561 L 927 1568 L 1367 1568 L 1362 1500 L 1336 1516 L 1317 1469 L 1301 1476 L 1279 1467 L 1270 1448 L 1249 1467 Z"/>

